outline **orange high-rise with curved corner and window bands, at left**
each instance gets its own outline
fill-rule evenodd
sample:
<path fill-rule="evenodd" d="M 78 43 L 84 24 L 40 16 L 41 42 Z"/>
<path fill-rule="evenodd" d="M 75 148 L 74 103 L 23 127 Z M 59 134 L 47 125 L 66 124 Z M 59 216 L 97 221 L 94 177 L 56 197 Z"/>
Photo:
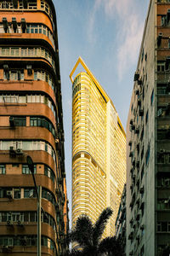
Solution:
<path fill-rule="evenodd" d="M 63 255 L 68 230 L 56 15 L 52 0 L 0 1 L 0 255 Z"/>

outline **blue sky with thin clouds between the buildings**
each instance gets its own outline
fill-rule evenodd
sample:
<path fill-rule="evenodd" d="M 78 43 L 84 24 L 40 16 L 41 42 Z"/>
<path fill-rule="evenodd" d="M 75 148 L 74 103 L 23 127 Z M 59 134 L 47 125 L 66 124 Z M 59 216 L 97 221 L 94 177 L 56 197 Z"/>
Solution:
<path fill-rule="evenodd" d="M 126 129 L 150 0 L 54 0 L 61 75 L 65 172 L 71 211 L 71 80 L 79 56 L 116 107 Z M 71 215 L 70 215 L 71 218 Z"/>

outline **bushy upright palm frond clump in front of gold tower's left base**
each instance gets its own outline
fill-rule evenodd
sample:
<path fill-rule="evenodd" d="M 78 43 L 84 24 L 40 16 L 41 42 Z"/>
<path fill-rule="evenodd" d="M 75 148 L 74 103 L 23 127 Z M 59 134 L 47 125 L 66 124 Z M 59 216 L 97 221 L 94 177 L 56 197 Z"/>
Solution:
<path fill-rule="evenodd" d="M 77 218 L 77 223 L 74 230 L 71 231 L 71 241 L 77 241 L 81 247 L 92 245 L 92 234 L 94 226 L 87 215 Z"/>

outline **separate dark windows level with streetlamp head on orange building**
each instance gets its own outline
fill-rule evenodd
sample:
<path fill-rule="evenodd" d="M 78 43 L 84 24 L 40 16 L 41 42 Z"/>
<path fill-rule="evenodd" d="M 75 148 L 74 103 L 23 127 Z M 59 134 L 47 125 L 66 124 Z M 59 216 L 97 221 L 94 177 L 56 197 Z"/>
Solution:
<path fill-rule="evenodd" d="M 34 165 L 34 174 L 37 173 L 37 165 Z M 0 165 L 0 174 L 6 174 L 6 165 Z M 22 174 L 31 174 L 30 168 L 27 165 L 22 165 Z M 44 175 L 50 177 L 51 180 L 54 182 L 55 175 L 51 168 L 48 166 L 44 166 Z"/>

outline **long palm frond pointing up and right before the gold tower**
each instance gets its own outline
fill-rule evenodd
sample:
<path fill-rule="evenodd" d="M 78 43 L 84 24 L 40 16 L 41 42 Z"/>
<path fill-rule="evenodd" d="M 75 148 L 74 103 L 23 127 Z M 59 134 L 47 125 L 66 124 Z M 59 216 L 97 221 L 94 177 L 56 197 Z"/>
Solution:
<path fill-rule="evenodd" d="M 101 236 L 105 230 L 105 225 L 108 222 L 108 219 L 111 217 L 111 214 L 113 211 L 110 207 L 105 208 L 103 212 L 99 215 L 98 220 L 94 224 L 94 233 L 93 233 L 93 244 L 97 245 L 99 244 L 99 240 L 101 239 Z"/>

